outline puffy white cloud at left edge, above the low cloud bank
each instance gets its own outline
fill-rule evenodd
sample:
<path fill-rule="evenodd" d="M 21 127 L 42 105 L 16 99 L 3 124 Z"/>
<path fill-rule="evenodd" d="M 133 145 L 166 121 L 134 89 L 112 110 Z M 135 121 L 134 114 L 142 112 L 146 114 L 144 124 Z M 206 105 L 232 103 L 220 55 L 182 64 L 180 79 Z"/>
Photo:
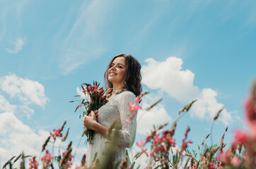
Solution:
<path fill-rule="evenodd" d="M 23 104 L 37 104 L 45 107 L 49 99 L 45 96 L 45 87 L 37 81 L 23 79 L 15 74 L 0 77 L 0 89 L 18 98 Z M 28 110 L 28 108 L 25 108 Z M 30 110 L 31 112 L 31 110 Z"/>

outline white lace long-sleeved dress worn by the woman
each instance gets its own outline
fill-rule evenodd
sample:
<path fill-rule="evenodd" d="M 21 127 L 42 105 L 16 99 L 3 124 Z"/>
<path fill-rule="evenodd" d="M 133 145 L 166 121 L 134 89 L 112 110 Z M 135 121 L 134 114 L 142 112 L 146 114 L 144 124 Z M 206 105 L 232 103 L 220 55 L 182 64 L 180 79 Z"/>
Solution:
<path fill-rule="evenodd" d="M 134 102 L 135 95 L 132 92 L 124 91 L 120 93 L 120 90 L 115 91 L 114 94 L 108 99 L 107 104 L 100 107 L 98 110 L 97 121 L 101 125 L 110 127 L 110 125 L 117 119 L 117 122 L 121 124 L 122 129 L 118 130 L 118 145 L 117 151 L 115 151 L 114 163 L 122 161 L 125 157 L 125 150 L 134 144 L 136 133 L 136 116 L 131 124 L 125 120 L 129 119 L 129 102 Z M 86 154 L 86 164 L 91 166 L 93 157 L 97 153 L 97 158 L 103 156 L 103 152 L 106 149 L 107 142 L 109 142 L 101 134 L 96 133 L 93 138 L 93 144 L 88 145 Z"/>

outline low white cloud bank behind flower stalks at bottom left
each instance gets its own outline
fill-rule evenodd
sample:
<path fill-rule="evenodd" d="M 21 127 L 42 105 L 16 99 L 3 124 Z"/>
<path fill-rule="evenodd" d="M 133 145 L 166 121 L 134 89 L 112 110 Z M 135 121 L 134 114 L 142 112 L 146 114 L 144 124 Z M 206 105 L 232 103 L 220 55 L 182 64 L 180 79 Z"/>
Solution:
<path fill-rule="evenodd" d="M 66 129 L 64 128 L 66 132 Z M 6 163 L 9 158 L 12 156 L 18 156 L 24 152 L 26 156 L 37 156 L 40 155 L 40 151 L 42 150 L 42 144 L 44 144 L 47 137 L 50 136 L 50 132 L 45 130 L 38 130 L 35 132 L 31 127 L 25 125 L 21 120 L 16 118 L 16 115 L 11 112 L 0 113 L 0 161 L 2 163 Z M 46 149 L 52 150 L 52 138 L 47 145 Z M 59 150 L 62 154 L 66 150 L 69 142 L 63 142 L 61 144 L 61 139 L 57 138 L 54 143 L 54 156 L 57 156 Z M 86 147 L 78 147 L 74 144 L 72 145 L 72 155 L 74 155 L 76 151 L 76 159 L 74 161 L 74 165 L 80 164 L 81 157 L 83 154 L 86 154 Z M 50 151 L 52 153 L 52 151 Z M 42 154 L 45 154 L 43 152 Z M 3 156 L 4 155 L 4 156 Z M 41 156 L 42 157 L 42 156 Z M 40 163 L 41 165 L 42 163 Z M 16 163 L 18 165 L 18 163 Z M 26 163 L 28 165 L 28 163 Z M 18 166 L 17 166 L 18 167 Z"/>

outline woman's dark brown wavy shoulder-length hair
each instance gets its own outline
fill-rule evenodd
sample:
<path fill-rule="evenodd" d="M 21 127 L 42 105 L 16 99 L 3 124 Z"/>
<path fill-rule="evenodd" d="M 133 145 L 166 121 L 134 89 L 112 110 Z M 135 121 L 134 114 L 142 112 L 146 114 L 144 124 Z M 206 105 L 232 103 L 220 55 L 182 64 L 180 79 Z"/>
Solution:
<path fill-rule="evenodd" d="M 127 67 L 127 75 L 123 82 L 122 91 L 128 90 L 133 92 L 135 96 L 139 96 L 141 94 L 141 64 L 136 60 L 132 55 L 128 54 L 118 54 L 112 58 L 110 63 L 107 65 L 107 70 L 104 74 L 105 85 L 107 88 L 112 88 L 113 84 L 108 80 L 108 70 L 110 69 L 112 62 L 115 58 L 124 57 Z"/>

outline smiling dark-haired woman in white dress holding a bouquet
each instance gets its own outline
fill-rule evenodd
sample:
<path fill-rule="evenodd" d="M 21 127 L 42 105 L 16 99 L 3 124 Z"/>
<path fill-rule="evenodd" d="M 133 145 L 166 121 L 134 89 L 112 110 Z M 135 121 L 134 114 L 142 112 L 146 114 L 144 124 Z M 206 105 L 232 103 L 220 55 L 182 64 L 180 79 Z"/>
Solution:
<path fill-rule="evenodd" d="M 95 153 L 97 158 L 103 156 L 108 144 L 107 132 L 110 125 L 116 120 L 120 124 L 117 131 L 117 149 L 113 156 L 113 163 L 125 158 L 125 150 L 134 143 L 136 133 L 136 117 L 132 123 L 129 119 L 129 102 L 133 102 L 135 96 L 141 94 L 141 65 L 136 58 L 127 54 L 118 54 L 110 61 L 105 71 L 106 86 L 112 88 L 112 95 L 107 104 L 100 107 L 98 111 L 92 111 L 91 115 L 83 118 L 83 126 L 94 130 L 96 134 L 93 144 L 89 144 L 86 163 L 91 165 Z M 98 118 L 96 118 L 96 116 Z"/>

